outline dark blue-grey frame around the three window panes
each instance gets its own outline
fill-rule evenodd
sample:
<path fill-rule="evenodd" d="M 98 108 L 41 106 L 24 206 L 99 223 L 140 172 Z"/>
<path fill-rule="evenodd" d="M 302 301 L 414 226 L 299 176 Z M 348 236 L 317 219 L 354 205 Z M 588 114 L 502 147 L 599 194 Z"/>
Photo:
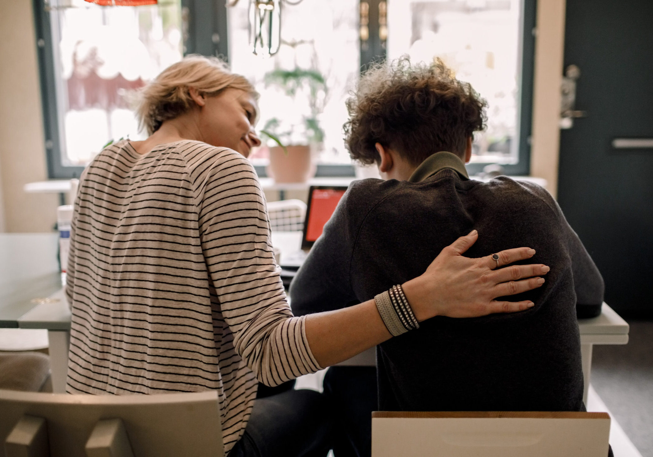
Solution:
<path fill-rule="evenodd" d="M 382 0 L 367 0 L 370 5 L 368 46 L 360 48 L 360 67 L 364 71 L 370 63 L 386 58 L 385 42 L 379 39 L 378 8 Z M 520 33 L 520 106 L 518 108 L 518 163 L 503 165 L 507 175 L 530 174 L 530 136 L 532 130 L 533 78 L 535 63 L 535 14 L 537 0 L 522 0 Z M 218 55 L 229 61 L 227 7 L 217 0 L 181 0 L 183 54 Z M 33 0 L 37 56 L 39 61 L 40 91 L 43 113 L 46 165 L 49 179 L 79 178 L 83 166 L 64 166 L 59 138 L 54 51 L 48 0 Z M 359 18 L 360 20 L 360 18 Z M 392 33 L 391 30 L 388 33 Z M 488 163 L 467 165 L 470 175 L 479 174 Z M 255 166 L 261 177 L 266 177 L 265 166 Z M 316 177 L 355 176 L 349 164 L 319 164 Z"/>

